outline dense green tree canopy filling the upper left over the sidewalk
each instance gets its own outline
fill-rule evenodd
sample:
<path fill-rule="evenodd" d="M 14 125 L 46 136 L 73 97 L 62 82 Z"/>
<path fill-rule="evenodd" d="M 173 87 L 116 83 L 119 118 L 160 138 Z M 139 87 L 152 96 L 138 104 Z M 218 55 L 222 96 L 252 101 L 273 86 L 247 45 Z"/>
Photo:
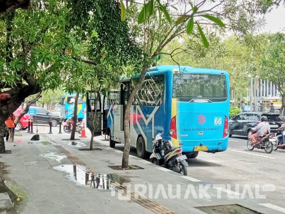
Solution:
<path fill-rule="evenodd" d="M 2 123 L 29 95 L 60 85 L 84 92 L 144 58 L 115 1 L 79 2 L 35 0 L 0 15 Z"/>

